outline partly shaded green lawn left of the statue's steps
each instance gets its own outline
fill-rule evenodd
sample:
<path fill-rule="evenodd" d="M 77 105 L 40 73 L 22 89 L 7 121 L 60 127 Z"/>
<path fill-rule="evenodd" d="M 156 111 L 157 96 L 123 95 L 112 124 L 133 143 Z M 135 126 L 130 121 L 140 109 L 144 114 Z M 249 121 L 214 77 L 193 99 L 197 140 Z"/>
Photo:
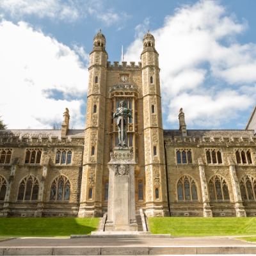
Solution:
<path fill-rule="evenodd" d="M 87 235 L 98 225 L 99 218 L 0 218 L 0 237 Z"/>

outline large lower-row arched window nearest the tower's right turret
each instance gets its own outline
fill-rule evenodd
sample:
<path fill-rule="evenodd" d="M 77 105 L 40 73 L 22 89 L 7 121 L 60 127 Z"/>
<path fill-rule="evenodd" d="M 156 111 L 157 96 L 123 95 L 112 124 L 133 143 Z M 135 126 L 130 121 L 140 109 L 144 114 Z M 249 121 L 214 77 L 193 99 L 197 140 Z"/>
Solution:
<path fill-rule="evenodd" d="M 177 183 L 178 200 L 197 200 L 195 180 L 189 175 L 183 175 Z"/>

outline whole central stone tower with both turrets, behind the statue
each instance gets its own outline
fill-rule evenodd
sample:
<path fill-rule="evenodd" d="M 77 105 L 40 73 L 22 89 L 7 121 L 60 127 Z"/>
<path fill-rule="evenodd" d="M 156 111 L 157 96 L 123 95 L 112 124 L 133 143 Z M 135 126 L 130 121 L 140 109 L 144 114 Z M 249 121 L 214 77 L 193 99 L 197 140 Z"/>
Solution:
<path fill-rule="evenodd" d="M 132 113 L 125 121 L 124 143 L 132 152 L 136 212 L 143 209 L 147 216 L 166 216 L 160 69 L 154 36 L 147 33 L 143 38 L 142 65 L 132 61 L 111 64 L 105 48 L 106 38 L 100 31 L 90 53 L 79 217 L 102 216 L 108 211 L 112 195 L 108 163 L 119 143 L 113 114 L 121 101 Z"/>

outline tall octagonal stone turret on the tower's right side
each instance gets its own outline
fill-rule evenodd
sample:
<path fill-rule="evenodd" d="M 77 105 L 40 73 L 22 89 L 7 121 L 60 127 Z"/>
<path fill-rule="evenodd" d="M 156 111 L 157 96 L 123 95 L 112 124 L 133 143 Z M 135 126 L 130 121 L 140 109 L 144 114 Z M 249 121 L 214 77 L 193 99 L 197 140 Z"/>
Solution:
<path fill-rule="evenodd" d="M 158 55 L 148 31 L 141 52 L 147 216 L 168 215 Z"/>

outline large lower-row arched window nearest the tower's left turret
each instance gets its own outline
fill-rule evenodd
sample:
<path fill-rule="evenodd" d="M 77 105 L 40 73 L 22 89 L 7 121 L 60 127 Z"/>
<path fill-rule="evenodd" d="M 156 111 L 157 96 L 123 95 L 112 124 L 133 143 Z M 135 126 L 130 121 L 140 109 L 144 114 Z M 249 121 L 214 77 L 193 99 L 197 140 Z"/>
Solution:
<path fill-rule="evenodd" d="M 70 198 L 70 182 L 64 175 L 56 177 L 51 185 L 50 200 L 69 200 Z"/>

